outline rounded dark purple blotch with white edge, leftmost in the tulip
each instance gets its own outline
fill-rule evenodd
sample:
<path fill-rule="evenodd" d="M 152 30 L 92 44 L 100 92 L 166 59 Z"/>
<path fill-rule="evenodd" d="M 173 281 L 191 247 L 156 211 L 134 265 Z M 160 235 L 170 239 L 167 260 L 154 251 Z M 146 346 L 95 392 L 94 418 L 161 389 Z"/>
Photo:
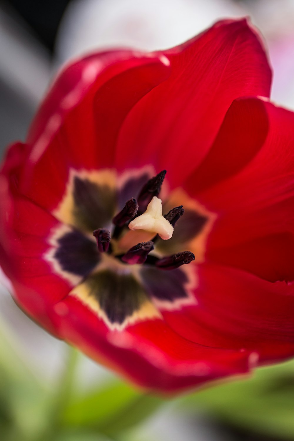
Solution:
<path fill-rule="evenodd" d="M 97 245 L 79 231 L 68 232 L 61 236 L 54 258 L 61 269 L 78 276 L 86 276 L 97 265 L 100 256 Z"/>

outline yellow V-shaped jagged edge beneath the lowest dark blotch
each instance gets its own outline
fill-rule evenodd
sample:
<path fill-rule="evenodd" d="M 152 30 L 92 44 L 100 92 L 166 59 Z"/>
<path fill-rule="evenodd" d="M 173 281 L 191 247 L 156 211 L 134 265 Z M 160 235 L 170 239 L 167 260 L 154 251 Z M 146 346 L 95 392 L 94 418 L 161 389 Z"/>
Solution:
<path fill-rule="evenodd" d="M 87 306 L 92 312 L 94 312 L 99 318 L 101 318 L 108 328 L 112 331 L 122 331 L 126 326 L 133 325 L 137 321 L 152 320 L 152 319 L 162 319 L 160 311 L 156 309 L 152 302 L 146 300 L 140 307 L 140 309 L 134 311 L 134 313 L 128 316 L 123 323 L 111 323 L 105 314 L 105 312 L 100 308 L 98 300 L 91 294 L 89 294 L 89 288 L 86 282 L 76 286 L 69 295 L 72 295 L 76 299 L 80 300 L 83 305 Z"/>

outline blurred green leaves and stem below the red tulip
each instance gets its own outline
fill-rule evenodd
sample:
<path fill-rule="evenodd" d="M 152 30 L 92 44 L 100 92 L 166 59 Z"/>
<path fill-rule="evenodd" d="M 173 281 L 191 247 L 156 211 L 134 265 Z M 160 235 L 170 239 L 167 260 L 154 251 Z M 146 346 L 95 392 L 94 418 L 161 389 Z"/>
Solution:
<path fill-rule="evenodd" d="M 164 399 L 112 376 L 81 390 L 78 368 L 86 357 L 65 344 L 64 350 L 67 360 L 63 372 L 49 387 L 33 374 L 20 356 L 20 348 L 1 330 L 1 440 L 174 439 L 163 438 L 158 424 L 156 430 L 154 419 L 158 417 L 167 427 L 176 422 L 177 436 L 183 440 L 294 440 L 294 361 Z M 206 424 L 206 429 L 205 425 L 200 427 L 202 434 L 206 431 L 206 438 L 198 437 L 199 419 Z M 212 433 L 208 437 L 211 425 L 219 438 L 213 438 Z M 195 438 L 191 437 L 193 433 Z"/>

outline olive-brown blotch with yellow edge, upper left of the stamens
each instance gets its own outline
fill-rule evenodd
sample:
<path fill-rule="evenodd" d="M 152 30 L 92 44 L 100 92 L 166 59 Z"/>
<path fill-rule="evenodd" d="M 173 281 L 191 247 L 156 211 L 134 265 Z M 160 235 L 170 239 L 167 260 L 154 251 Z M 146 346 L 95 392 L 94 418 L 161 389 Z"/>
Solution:
<path fill-rule="evenodd" d="M 116 194 L 108 185 L 75 176 L 73 197 L 75 225 L 83 230 L 93 232 L 104 228 L 114 216 Z"/>

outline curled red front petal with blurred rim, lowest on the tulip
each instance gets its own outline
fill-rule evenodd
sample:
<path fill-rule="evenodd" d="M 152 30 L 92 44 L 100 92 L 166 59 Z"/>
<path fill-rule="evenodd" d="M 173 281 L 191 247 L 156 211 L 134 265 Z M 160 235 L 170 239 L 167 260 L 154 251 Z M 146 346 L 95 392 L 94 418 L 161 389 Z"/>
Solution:
<path fill-rule="evenodd" d="M 181 338 L 161 320 L 109 332 L 71 296 L 57 303 L 55 311 L 63 339 L 145 387 L 174 391 L 249 369 L 248 352 L 202 347 Z"/>

